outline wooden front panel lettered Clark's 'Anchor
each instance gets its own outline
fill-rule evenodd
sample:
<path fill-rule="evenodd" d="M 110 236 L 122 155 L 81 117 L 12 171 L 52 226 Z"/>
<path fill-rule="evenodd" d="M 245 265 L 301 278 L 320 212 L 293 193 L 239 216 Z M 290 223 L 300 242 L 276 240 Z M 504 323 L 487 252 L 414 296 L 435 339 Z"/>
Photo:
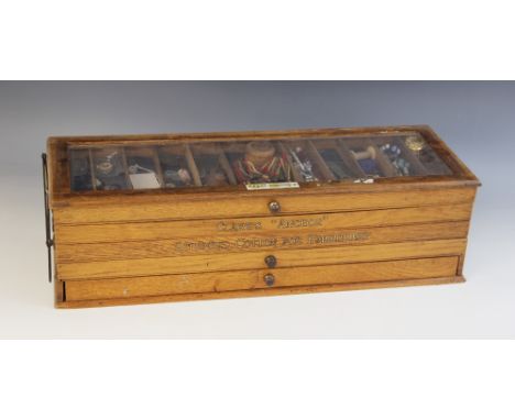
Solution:
<path fill-rule="evenodd" d="M 404 225 L 469 221 L 470 203 L 426 206 L 403 209 L 348 211 L 289 217 L 237 219 L 176 220 L 163 222 L 127 222 L 107 224 L 56 224 L 59 245 L 98 244 L 128 241 L 160 241 L 177 237 L 234 237 L 242 235 L 283 235 L 289 232 L 338 230 L 371 226 Z"/>

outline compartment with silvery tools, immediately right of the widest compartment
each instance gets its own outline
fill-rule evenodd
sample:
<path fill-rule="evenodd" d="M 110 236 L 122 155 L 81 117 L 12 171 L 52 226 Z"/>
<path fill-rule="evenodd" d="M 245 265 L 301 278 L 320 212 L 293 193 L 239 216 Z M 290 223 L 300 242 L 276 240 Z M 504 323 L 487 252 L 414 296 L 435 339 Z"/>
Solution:
<path fill-rule="evenodd" d="M 335 179 L 335 176 L 309 141 L 284 141 L 282 144 L 300 183 Z"/>

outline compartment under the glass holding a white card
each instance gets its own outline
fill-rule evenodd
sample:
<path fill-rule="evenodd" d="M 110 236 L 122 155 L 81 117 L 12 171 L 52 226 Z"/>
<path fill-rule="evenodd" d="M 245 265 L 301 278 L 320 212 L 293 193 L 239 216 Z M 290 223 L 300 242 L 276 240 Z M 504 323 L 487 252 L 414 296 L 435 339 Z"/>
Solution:
<path fill-rule="evenodd" d="M 162 187 L 161 168 L 154 147 L 125 147 L 129 181 L 133 189 Z"/>

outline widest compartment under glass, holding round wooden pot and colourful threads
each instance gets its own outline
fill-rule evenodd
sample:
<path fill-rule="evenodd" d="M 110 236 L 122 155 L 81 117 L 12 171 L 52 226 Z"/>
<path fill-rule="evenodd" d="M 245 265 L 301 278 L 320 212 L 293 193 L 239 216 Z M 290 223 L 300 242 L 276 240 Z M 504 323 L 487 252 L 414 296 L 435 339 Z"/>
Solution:
<path fill-rule="evenodd" d="M 278 142 L 223 143 L 238 184 L 297 180 L 286 150 Z"/>

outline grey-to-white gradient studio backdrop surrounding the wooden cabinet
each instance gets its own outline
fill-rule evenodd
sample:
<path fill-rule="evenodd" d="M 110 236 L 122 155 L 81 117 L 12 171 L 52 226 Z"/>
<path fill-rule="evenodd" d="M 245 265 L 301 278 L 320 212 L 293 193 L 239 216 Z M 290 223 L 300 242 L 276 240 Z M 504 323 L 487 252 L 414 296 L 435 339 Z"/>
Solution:
<path fill-rule="evenodd" d="M 514 114 L 515 82 L 2 82 L 0 335 L 514 338 Z M 465 284 L 53 308 L 39 161 L 46 136 L 416 123 L 430 124 L 483 183 Z"/>

